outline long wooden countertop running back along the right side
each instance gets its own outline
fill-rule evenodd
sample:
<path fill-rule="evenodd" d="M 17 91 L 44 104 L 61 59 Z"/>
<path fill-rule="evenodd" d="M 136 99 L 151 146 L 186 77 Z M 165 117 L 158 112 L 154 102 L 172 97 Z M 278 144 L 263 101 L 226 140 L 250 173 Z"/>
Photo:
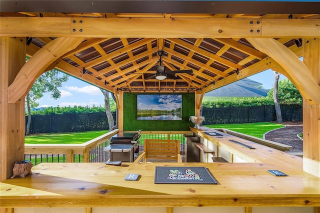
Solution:
<path fill-rule="evenodd" d="M 190 130 L 195 134 L 213 142 L 214 144 L 224 148 L 230 153 L 242 158 L 247 162 L 265 162 L 273 165 L 296 167 L 302 169 L 303 159 L 302 157 L 295 156 L 275 148 L 271 148 L 265 145 L 261 145 L 250 140 L 246 140 L 231 134 L 221 132 L 216 129 L 212 129 L 206 126 L 200 126 L 199 128 L 190 127 Z M 207 135 L 204 132 L 217 132 L 222 136 Z M 229 139 L 234 139 L 243 144 L 254 147 L 255 149 L 249 149 L 243 145 L 231 142 Z"/>

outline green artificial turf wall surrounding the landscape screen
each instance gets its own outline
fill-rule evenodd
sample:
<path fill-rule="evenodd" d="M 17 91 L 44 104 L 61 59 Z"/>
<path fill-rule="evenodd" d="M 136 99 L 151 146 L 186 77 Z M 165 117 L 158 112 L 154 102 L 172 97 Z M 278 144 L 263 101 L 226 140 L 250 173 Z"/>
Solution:
<path fill-rule="evenodd" d="M 147 94 L 147 93 L 146 93 Z M 177 94 L 177 93 L 168 93 Z M 137 120 L 136 96 L 137 93 L 123 93 L 123 131 L 184 131 L 190 130 L 194 124 L 189 116 L 194 115 L 194 93 L 182 94 L 182 120 Z"/>

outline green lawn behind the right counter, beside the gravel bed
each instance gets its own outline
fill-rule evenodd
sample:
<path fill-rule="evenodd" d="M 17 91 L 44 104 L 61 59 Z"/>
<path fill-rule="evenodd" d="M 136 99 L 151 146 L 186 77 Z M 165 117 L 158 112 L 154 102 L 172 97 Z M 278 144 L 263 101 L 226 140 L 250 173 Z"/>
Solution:
<path fill-rule="evenodd" d="M 203 125 L 210 128 L 227 128 L 233 131 L 241 132 L 255 137 L 263 138 L 263 134 L 267 131 L 281 128 L 284 125 L 271 122 L 257 122 L 257 123 L 231 123 L 231 124 L 212 124 Z"/>

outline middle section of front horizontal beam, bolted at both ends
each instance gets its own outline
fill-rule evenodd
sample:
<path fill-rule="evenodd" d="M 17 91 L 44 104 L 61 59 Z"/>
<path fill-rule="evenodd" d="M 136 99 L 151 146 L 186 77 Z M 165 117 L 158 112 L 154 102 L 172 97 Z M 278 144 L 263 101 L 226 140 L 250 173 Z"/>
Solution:
<path fill-rule="evenodd" d="M 80 20 L 82 22 L 80 23 Z M 261 35 L 261 24 L 250 32 L 252 24 L 248 19 L 214 18 L 71 18 L 71 34 L 87 34 L 97 37 L 239 37 Z M 154 30 L 161 26 L 165 30 Z M 121 29 L 120 29 L 121 28 Z M 139 30 L 136 30 L 136 29 Z M 260 31 L 258 32 L 257 29 Z M 121 35 L 119 35 L 119 32 Z M 92 36 L 91 36 L 91 35 Z M 100 35 L 97 35 L 100 34 Z M 199 34 L 202 34 L 199 36 Z M 227 34 L 227 35 L 226 35 Z"/>

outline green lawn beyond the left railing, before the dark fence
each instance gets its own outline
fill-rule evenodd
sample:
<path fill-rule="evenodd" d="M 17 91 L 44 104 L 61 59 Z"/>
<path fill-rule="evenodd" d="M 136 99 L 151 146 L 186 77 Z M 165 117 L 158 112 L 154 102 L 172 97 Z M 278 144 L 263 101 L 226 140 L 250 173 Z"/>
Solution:
<path fill-rule="evenodd" d="M 109 130 L 77 131 L 63 133 L 43 133 L 24 137 L 25 144 L 78 144 L 84 143 L 97 136 L 107 133 Z"/>

